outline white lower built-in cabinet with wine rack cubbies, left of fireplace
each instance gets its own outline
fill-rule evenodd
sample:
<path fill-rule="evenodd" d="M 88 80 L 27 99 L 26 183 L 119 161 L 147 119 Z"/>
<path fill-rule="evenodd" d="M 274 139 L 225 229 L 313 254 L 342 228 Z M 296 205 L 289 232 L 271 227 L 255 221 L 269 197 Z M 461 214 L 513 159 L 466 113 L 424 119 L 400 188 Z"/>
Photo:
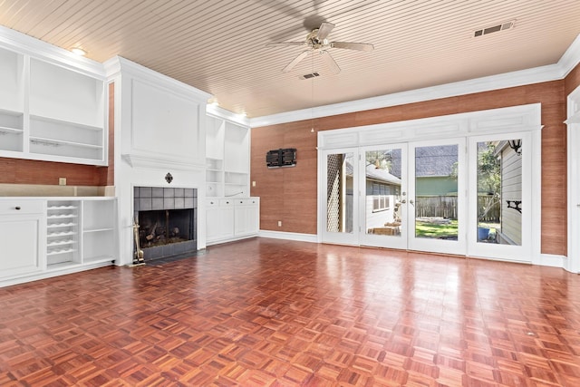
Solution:
<path fill-rule="evenodd" d="M 110 197 L 0 198 L 0 286 L 111 265 L 116 208 Z"/>

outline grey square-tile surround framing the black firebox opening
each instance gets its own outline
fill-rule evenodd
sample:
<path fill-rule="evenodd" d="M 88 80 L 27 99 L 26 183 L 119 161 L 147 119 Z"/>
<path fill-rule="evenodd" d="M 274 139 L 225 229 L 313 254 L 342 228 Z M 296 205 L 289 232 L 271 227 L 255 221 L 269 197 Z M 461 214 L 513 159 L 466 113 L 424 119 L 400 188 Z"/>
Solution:
<path fill-rule="evenodd" d="M 139 218 L 140 211 L 191 209 L 192 238 L 185 242 L 170 243 L 157 247 L 141 247 L 144 259 L 159 259 L 169 256 L 179 256 L 198 249 L 198 190 L 184 188 L 134 187 L 133 188 L 133 218 Z"/>

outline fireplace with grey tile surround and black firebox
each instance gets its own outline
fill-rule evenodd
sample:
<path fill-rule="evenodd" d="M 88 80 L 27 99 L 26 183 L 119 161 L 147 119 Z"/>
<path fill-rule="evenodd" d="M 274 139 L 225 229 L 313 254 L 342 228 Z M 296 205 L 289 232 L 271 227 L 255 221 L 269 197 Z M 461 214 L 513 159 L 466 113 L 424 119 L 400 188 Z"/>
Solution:
<path fill-rule="evenodd" d="M 135 187 L 133 198 L 134 219 L 139 224 L 139 244 L 145 261 L 180 256 L 198 249 L 197 189 Z"/>

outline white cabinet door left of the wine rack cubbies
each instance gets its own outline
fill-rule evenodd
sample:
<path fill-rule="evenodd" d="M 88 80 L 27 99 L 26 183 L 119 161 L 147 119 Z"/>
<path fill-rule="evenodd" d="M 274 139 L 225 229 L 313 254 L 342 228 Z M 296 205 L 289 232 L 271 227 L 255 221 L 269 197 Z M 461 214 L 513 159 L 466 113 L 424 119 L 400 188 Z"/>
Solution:
<path fill-rule="evenodd" d="M 28 203 L 23 203 L 22 207 L 10 204 L 12 211 L 0 211 L 0 277 L 43 270 L 43 214 L 27 211 L 28 208 L 39 206 L 42 204 L 32 203 L 32 206 L 28 206 Z M 24 213 L 19 213 L 21 210 Z"/>

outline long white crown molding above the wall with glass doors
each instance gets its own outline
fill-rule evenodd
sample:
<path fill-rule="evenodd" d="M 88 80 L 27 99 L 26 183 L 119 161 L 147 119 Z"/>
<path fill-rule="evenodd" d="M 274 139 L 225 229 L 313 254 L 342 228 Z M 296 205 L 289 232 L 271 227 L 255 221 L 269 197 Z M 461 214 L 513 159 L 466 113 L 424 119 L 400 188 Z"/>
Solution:
<path fill-rule="evenodd" d="M 468 81 L 452 82 L 408 92 L 396 92 L 378 97 L 366 98 L 351 102 L 308 108 L 299 111 L 287 111 L 269 116 L 250 119 L 250 127 L 275 125 L 285 122 L 312 120 L 355 111 L 398 106 L 407 103 L 438 100 L 476 92 L 489 92 L 527 84 L 557 81 L 565 78 L 580 63 L 580 35 L 568 47 L 558 63 L 511 73 L 502 73 Z"/>

